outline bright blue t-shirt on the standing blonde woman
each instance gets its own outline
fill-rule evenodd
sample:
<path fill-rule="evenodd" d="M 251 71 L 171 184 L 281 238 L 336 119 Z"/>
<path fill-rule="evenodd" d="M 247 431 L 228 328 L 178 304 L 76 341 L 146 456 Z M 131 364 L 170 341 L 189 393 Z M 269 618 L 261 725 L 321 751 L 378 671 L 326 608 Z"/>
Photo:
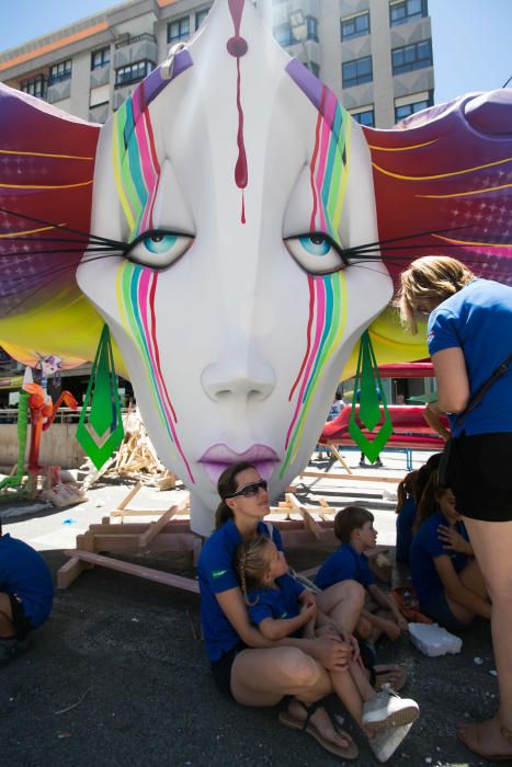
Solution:
<path fill-rule="evenodd" d="M 428 341 L 431 356 L 444 348 L 462 348 L 473 397 L 512 352 L 512 287 L 474 279 L 434 309 Z M 456 415 L 450 422 L 458 436 Z M 462 428 L 466 434 L 512 432 L 512 365 Z"/>

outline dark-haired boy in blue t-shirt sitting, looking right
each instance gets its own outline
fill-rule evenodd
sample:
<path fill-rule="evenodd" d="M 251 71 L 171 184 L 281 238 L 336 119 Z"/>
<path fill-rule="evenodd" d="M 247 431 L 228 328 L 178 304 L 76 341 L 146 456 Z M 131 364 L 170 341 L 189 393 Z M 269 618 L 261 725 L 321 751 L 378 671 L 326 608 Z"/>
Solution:
<path fill-rule="evenodd" d="M 377 586 L 369 570 L 364 552 L 375 548 L 377 530 L 373 523 L 372 512 L 361 506 L 346 506 L 338 512 L 334 535 L 341 546 L 323 562 L 315 579 L 315 584 L 322 589 L 348 579 L 364 586 L 366 600 L 355 636 L 372 649 L 382 633 L 398 639 L 408 628 L 397 604 Z"/>

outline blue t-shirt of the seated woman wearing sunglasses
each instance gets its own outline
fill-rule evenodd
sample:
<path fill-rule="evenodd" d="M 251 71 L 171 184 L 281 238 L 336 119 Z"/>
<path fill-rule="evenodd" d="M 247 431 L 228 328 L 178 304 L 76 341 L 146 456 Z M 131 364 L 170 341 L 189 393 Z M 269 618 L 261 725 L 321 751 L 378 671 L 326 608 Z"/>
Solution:
<path fill-rule="evenodd" d="M 258 533 L 269 536 L 263 522 L 258 523 Z M 278 551 L 283 550 L 281 534 L 272 528 L 272 540 Z M 235 551 L 242 537 L 232 519 L 213 533 L 201 551 L 197 563 L 201 589 L 201 622 L 206 652 L 212 662 L 220 660 L 240 642 L 240 637 L 224 615 L 216 594 L 238 588 L 238 577 L 234 565 Z"/>

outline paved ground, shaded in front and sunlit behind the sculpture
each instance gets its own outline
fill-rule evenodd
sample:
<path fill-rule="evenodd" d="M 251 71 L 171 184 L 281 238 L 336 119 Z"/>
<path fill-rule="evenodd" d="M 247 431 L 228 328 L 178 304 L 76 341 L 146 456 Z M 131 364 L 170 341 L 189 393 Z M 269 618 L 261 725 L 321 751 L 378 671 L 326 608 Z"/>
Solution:
<path fill-rule="evenodd" d="M 384 460 L 384 470 L 368 474 L 405 473 L 403 456 L 389 454 Z M 367 504 L 383 543 L 394 541 L 392 501 L 383 499 L 383 491 L 389 495 L 392 489 L 373 482 L 315 483 L 315 493 L 335 506 L 352 499 Z M 126 492 L 126 486 L 99 485 L 87 504 L 70 510 L 35 515 L 25 510 L 23 517 L 9 511 L 4 530 L 42 550 L 55 572 L 77 533 L 101 519 Z M 315 493 L 309 493 L 311 502 Z M 139 504 L 166 508 L 172 497 L 145 489 Z M 316 564 L 318 552 L 291 552 L 289 559 Z M 192 574 L 187 557 L 171 562 L 159 556 L 145 563 Z M 278 709 L 243 709 L 217 692 L 201 641 L 198 606 L 195 595 L 99 568 L 58 592 L 52 619 L 35 632 L 31 651 L 0 671 L 1 767 L 340 765 L 308 735 L 281 726 Z M 388 764 L 488 764 L 471 758 L 454 734 L 464 714 L 482 718 L 497 705 L 486 625 L 464 639 L 459 655 L 429 659 L 403 638 L 383 645 L 380 660 L 405 664 L 410 675 L 405 692 L 421 707 L 419 722 Z M 348 726 L 360 744 L 359 764 L 378 764 Z"/>

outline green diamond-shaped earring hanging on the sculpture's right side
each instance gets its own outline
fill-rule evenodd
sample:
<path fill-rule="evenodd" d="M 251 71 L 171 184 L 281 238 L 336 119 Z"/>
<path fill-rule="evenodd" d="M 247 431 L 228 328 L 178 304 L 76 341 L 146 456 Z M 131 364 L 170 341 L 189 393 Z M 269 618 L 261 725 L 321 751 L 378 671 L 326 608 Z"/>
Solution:
<path fill-rule="evenodd" d="M 366 426 L 368 432 L 373 432 L 379 421 L 383 419 L 383 413 L 379 407 L 380 400 L 384 410 L 384 419 L 380 427 L 371 440 L 362 431 L 356 420 L 356 402 L 352 402 L 352 409 L 349 419 L 349 434 L 355 442 L 357 447 L 364 453 L 366 458 L 374 463 L 387 440 L 392 434 L 392 424 L 389 411 L 384 397 L 384 389 L 378 375 L 377 360 L 369 339 L 367 330 L 361 336 L 360 354 L 357 357 L 357 369 L 355 371 L 354 391 L 360 391 L 360 409 L 359 421 Z"/>

